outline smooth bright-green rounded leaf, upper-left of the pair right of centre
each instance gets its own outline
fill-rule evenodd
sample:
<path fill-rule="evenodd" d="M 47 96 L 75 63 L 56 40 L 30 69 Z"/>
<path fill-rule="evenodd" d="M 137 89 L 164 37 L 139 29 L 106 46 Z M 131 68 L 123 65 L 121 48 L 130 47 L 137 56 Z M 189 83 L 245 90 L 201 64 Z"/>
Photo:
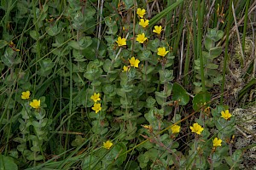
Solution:
<path fill-rule="evenodd" d="M 179 101 L 179 105 L 187 105 L 189 103 L 188 92 L 177 82 L 173 83 L 172 92 L 172 99 Z"/>

